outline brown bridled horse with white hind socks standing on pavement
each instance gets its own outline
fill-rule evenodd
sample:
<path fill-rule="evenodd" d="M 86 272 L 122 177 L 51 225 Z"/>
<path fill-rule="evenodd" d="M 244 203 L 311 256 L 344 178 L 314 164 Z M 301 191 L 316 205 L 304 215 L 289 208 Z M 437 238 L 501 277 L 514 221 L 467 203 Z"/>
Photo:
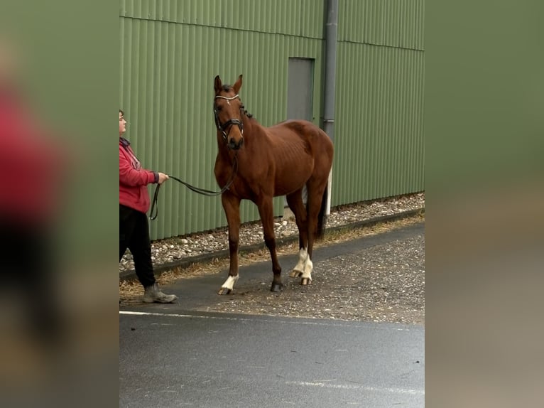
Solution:
<path fill-rule="evenodd" d="M 272 259 L 271 291 L 283 289 L 273 222 L 272 199 L 278 195 L 286 196 L 299 232 L 299 260 L 290 277 L 302 277 L 300 284 L 310 284 L 314 240 L 322 237 L 325 227 L 332 141 L 325 131 L 305 120 L 261 126 L 241 103 L 241 77 L 232 86 L 223 85 L 219 75 L 214 81 L 219 147 L 214 173 L 220 187 L 232 183 L 221 195 L 229 224 L 230 268 L 219 294 L 229 294 L 238 280 L 241 200 L 251 200 L 259 208 L 264 242 Z M 306 208 L 304 186 L 308 193 Z"/>

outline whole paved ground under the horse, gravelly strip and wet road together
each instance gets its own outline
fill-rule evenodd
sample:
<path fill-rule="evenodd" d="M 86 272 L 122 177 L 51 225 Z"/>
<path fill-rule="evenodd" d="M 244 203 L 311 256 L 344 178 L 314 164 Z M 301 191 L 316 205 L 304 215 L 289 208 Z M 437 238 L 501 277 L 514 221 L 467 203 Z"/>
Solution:
<path fill-rule="evenodd" d="M 423 222 L 320 248 L 310 286 L 288 278 L 288 255 L 281 294 L 259 262 L 232 295 L 217 295 L 220 271 L 168 286 L 178 304 L 121 306 L 119 406 L 423 407 L 422 254 Z M 373 321 L 405 310 L 416 318 Z"/>

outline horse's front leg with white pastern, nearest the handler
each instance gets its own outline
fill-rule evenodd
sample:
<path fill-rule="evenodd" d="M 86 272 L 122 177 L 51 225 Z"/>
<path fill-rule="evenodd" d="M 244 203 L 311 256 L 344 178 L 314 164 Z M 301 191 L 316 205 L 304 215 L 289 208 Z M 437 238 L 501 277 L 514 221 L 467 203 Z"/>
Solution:
<path fill-rule="evenodd" d="M 221 195 L 221 202 L 223 209 L 227 217 L 227 223 L 229 225 L 229 277 L 224 281 L 221 288 L 219 288 L 220 295 L 228 295 L 234 289 L 234 284 L 238 280 L 238 245 L 239 245 L 239 232 L 240 232 L 240 199 L 234 195 L 223 193 Z"/>

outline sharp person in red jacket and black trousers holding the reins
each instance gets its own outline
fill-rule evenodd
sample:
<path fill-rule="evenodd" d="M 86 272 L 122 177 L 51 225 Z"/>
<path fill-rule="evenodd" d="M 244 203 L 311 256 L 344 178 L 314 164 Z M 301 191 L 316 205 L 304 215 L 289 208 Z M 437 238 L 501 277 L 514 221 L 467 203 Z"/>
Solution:
<path fill-rule="evenodd" d="M 141 166 L 130 142 L 123 137 L 125 131 L 124 112 L 119 109 L 119 262 L 126 249 L 130 249 L 136 277 L 143 286 L 143 301 L 172 303 L 178 296 L 164 294 L 158 288 L 153 274 L 146 215 L 150 205 L 147 185 L 162 184 L 168 180 L 168 175 Z"/>

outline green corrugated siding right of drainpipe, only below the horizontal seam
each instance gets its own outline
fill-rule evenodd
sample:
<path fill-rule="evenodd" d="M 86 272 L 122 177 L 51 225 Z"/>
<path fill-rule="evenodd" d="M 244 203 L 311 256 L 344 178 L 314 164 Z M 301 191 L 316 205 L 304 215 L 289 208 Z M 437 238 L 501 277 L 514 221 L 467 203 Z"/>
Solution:
<path fill-rule="evenodd" d="M 341 43 L 338 58 L 333 205 L 423 190 L 423 53 Z"/>

